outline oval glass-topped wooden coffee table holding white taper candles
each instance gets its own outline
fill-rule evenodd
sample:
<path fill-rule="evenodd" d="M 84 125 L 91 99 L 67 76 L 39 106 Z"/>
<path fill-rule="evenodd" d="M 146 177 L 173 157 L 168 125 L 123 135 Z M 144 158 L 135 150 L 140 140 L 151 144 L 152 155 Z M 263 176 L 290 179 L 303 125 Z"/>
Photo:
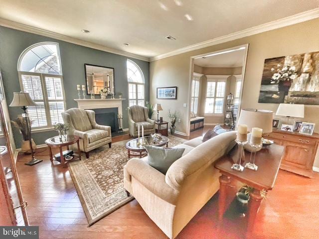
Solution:
<path fill-rule="evenodd" d="M 168 137 L 161 135 L 158 139 L 154 140 L 153 137 L 150 136 L 144 136 L 146 145 L 152 145 L 152 146 L 164 146 L 168 147 Z M 148 154 L 144 146 L 141 144 L 143 138 L 140 137 L 140 139 L 135 138 L 130 141 L 128 141 L 125 144 L 125 147 L 128 149 L 128 156 L 130 157 L 144 157 Z M 140 145 L 138 145 L 138 142 L 140 142 Z"/>

